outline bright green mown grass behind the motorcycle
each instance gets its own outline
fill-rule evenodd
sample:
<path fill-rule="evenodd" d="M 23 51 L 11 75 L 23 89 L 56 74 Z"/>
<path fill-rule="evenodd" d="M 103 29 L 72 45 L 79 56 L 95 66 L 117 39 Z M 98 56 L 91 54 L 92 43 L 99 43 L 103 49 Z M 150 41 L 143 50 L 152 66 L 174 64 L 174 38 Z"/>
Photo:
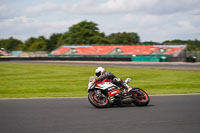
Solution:
<path fill-rule="evenodd" d="M 0 63 L 0 98 L 87 96 L 95 67 Z M 149 94 L 200 93 L 200 71 L 106 67 Z"/>

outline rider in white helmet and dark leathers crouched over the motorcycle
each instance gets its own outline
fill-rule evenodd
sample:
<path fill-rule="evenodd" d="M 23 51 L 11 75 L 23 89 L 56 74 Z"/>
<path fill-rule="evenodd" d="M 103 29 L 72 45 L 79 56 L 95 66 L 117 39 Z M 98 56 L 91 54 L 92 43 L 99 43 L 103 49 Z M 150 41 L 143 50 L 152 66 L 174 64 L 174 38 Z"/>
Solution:
<path fill-rule="evenodd" d="M 95 73 L 96 73 L 98 81 L 103 81 L 104 79 L 110 79 L 111 82 L 117 85 L 118 87 L 120 88 L 122 87 L 128 90 L 128 87 L 124 84 L 123 80 L 121 80 L 120 78 L 117 78 L 114 74 L 108 71 L 105 71 L 103 67 L 97 67 L 97 69 L 95 70 Z"/>

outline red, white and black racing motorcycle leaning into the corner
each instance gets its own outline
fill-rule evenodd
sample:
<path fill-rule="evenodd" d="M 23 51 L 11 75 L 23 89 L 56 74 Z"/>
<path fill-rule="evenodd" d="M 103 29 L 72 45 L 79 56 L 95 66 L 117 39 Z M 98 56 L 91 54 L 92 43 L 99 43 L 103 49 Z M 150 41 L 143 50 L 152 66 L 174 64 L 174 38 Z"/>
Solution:
<path fill-rule="evenodd" d="M 148 105 L 150 101 L 148 94 L 140 88 L 130 87 L 128 85 L 130 81 L 130 78 L 124 81 L 123 84 L 128 88 L 124 89 L 113 84 L 109 79 L 98 81 L 95 76 L 91 76 L 88 83 L 88 100 L 96 108 L 121 104 Z"/>

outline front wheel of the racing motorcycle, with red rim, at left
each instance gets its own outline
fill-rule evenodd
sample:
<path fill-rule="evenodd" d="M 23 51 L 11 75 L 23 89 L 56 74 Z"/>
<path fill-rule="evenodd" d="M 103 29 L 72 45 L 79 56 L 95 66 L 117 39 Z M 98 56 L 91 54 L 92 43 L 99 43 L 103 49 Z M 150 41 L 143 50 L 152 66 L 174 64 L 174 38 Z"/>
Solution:
<path fill-rule="evenodd" d="M 89 92 L 88 100 L 96 108 L 106 108 L 109 106 L 108 97 L 103 93 L 101 96 L 98 96 L 95 90 Z"/>

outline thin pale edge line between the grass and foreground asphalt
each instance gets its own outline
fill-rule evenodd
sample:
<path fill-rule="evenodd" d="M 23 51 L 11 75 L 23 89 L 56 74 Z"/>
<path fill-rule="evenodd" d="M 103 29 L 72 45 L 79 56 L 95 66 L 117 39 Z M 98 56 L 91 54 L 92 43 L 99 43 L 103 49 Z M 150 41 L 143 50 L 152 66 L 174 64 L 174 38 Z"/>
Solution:
<path fill-rule="evenodd" d="M 190 93 L 190 94 L 161 94 L 161 95 L 149 95 L 150 97 L 157 96 L 190 96 L 190 95 L 200 95 L 200 93 Z M 87 97 L 39 97 L 39 98 L 0 98 L 0 100 L 40 100 L 40 99 L 85 99 Z"/>

